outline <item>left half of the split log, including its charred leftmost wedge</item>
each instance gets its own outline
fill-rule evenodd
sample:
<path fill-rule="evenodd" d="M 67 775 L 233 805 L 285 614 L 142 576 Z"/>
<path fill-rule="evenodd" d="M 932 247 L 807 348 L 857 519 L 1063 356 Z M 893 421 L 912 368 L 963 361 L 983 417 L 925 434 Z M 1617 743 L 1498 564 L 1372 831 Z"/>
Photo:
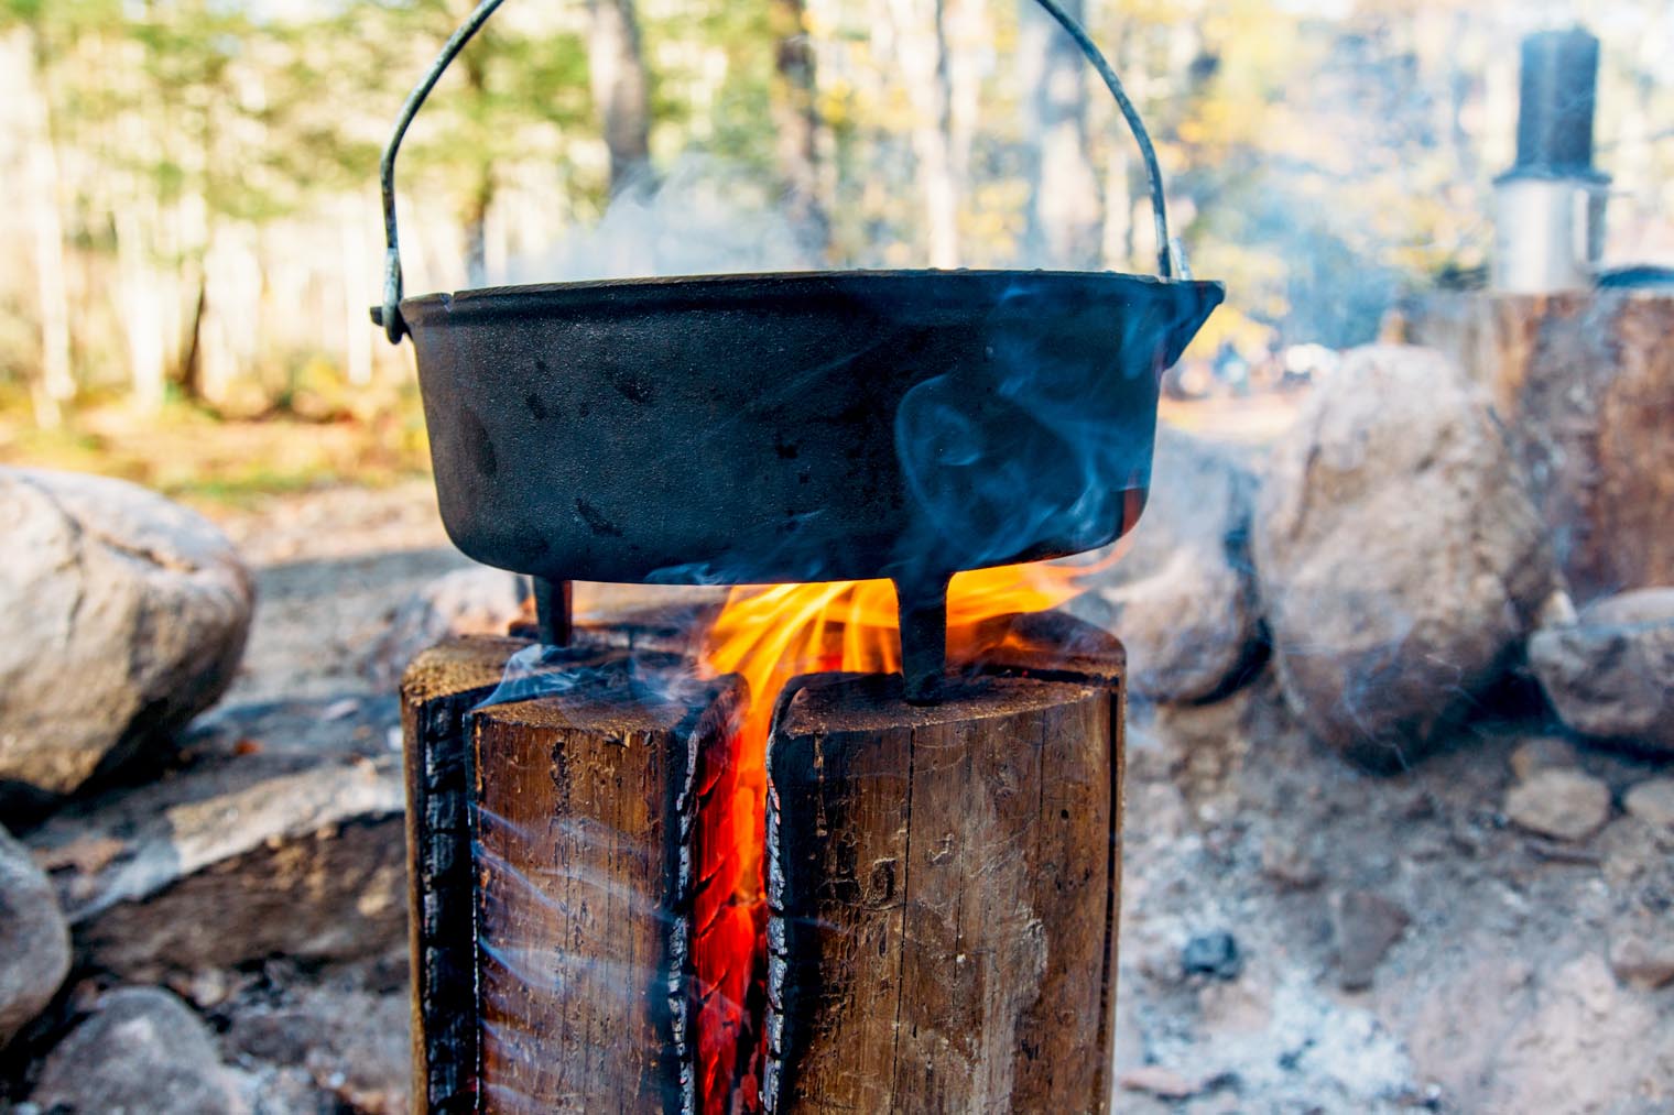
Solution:
<path fill-rule="evenodd" d="M 512 640 L 407 675 L 420 1112 L 690 1112 L 696 780 L 737 691 L 578 648 L 479 707 Z M 437 777 L 445 772 L 445 777 Z"/>

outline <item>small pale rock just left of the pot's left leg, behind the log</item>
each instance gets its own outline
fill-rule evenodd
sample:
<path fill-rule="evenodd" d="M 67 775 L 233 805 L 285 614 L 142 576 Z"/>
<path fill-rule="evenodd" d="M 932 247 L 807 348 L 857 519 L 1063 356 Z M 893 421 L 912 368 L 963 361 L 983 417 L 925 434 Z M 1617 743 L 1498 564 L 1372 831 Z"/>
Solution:
<path fill-rule="evenodd" d="M 522 608 L 524 579 L 516 573 L 489 566 L 447 573 L 395 608 L 365 673 L 377 688 L 392 690 L 418 651 L 459 635 L 506 635 Z"/>

